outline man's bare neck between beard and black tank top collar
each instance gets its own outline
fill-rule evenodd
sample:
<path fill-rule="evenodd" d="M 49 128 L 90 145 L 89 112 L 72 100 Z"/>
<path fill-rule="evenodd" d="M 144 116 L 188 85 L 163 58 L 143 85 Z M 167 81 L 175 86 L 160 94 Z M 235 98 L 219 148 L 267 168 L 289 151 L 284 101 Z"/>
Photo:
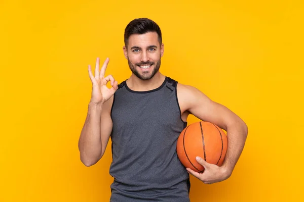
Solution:
<path fill-rule="evenodd" d="M 147 91 L 158 88 L 165 80 L 165 75 L 160 72 L 156 73 L 153 78 L 148 80 L 142 80 L 132 74 L 130 78 L 126 81 L 130 89 L 135 91 Z"/>

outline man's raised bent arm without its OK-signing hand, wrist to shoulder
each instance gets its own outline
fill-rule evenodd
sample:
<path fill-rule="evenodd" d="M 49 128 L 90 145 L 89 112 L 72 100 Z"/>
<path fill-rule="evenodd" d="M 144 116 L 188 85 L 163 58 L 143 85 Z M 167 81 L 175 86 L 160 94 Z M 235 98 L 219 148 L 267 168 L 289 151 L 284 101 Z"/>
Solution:
<path fill-rule="evenodd" d="M 81 162 L 96 164 L 104 154 L 112 131 L 110 110 L 113 96 L 102 104 L 90 103 L 88 114 L 78 142 Z"/>

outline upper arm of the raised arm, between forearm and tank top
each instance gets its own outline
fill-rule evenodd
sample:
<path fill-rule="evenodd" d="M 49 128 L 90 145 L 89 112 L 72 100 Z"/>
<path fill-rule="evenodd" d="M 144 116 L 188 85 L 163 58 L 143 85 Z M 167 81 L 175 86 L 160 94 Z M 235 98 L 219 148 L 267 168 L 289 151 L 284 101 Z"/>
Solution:
<path fill-rule="evenodd" d="M 108 144 L 113 128 L 113 122 L 110 114 L 112 103 L 113 103 L 113 96 L 109 100 L 107 100 L 104 103 L 104 106 L 102 107 L 101 121 L 100 121 L 100 135 L 101 135 L 101 144 L 102 144 L 101 157 L 104 154 L 104 151 Z"/>

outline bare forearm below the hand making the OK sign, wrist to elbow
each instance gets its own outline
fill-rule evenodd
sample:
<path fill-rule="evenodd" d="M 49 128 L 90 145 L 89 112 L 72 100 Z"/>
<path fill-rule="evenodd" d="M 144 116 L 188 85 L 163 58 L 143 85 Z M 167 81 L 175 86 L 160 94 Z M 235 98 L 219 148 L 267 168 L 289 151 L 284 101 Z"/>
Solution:
<path fill-rule="evenodd" d="M 102 104 L 89 104 L 87 118 L 81 131 L 78 146 L 81 161 L 86 166 L 95 164 L 99 160 L 102 153 L 100 135 L 102 106 Z"/>

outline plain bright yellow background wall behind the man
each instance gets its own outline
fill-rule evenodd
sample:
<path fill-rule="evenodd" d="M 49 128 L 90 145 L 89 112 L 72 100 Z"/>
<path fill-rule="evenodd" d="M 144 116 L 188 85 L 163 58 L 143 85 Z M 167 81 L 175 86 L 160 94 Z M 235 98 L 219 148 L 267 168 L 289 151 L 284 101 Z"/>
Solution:
<path fill-rule="evenodd" d="M 128 78 L 124 29 L 139 17 L 162 29 L 161 72 L 196 86 L 249 128 L 231 178 L 205 185 L 191 177 L 191 201 L 303 200 L 303 6 L 1 1 L 0 201 L 108 201 L 110 146 L 92 167 L 79 158 L 87 67 L 109 57 L 106 73 Z"/>

